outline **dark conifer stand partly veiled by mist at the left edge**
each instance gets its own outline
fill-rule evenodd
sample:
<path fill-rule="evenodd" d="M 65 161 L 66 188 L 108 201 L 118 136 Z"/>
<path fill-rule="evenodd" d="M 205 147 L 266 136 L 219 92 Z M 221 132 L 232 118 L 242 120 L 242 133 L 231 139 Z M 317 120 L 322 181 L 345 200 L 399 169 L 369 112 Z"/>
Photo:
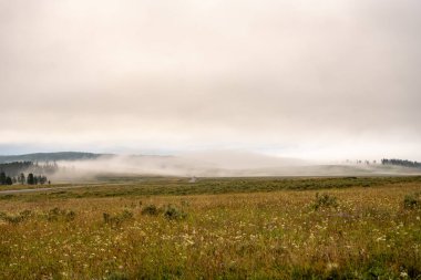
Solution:
<path fill-rule="evenodd" d="M 50 184 L 45 175 L 53 174 L 58 169 L 59 166 L 55 162 L 52 164 L 45 163 L 41 165 L 32 162 L 13 162 L 0 164 L 0 185 Z"/>

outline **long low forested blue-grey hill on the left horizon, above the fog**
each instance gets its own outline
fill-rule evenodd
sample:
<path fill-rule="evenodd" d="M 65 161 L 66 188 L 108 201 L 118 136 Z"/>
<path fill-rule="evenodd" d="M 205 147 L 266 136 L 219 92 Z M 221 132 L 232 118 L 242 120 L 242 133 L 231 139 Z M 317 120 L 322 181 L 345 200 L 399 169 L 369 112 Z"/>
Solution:
<path fill-rule="evenodd" d="M 110 156 L 110 154 L 59 152 L 59 153 L 35 153 L 35 154 L 25 154 L 25 155 L 7 155 L 7 156 L 0 156 L 0 163 L 81 160 L 81 159 L 95 159 L 101 156 Z"/>

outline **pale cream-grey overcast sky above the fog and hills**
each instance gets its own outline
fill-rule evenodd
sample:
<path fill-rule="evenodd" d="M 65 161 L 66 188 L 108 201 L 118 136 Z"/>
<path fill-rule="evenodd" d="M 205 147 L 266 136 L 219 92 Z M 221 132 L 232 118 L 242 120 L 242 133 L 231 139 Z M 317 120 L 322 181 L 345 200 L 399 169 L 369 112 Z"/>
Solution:
<path fill-rule="evenodd" d="M 0 0 L 0 154 L 421 159 L 419 0 Z"/>

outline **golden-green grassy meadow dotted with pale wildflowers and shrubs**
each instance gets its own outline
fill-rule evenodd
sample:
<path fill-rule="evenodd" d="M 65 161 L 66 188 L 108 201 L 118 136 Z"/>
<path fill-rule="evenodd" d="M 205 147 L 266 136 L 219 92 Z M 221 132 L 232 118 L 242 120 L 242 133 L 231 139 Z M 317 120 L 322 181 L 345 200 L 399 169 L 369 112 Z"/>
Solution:
<path fill-rule="evenodd" d="M 421 279 L 421 177 L 52 187 L 0 194 L 0 279 Z"/>

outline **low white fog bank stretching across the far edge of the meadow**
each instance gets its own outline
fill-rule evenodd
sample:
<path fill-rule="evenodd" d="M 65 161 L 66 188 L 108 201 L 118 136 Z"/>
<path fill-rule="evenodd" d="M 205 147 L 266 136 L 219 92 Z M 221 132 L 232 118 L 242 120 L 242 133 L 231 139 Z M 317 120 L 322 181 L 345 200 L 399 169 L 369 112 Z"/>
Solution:
<path fill-rule="evenodd" d="M 240 152 L 191 153 L 178 156 L 104 155 L 94 159 L 61 160 L 54 180 L 94 179 L 99 175 L 182 177 L 369 176 L 415 175 L 421 169 L 381 164 L 320 164 Z"/>

